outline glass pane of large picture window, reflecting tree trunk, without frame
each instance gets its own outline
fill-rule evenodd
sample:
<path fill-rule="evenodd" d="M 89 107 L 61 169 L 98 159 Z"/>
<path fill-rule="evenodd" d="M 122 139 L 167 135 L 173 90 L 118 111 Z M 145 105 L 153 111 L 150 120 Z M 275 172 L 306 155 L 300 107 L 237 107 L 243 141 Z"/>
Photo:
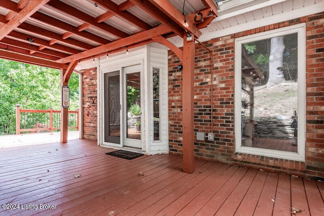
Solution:
<path fill-rule="evenodd" d="M 242 44 L 241 145 L 297 152 L 297 33 Z"/>

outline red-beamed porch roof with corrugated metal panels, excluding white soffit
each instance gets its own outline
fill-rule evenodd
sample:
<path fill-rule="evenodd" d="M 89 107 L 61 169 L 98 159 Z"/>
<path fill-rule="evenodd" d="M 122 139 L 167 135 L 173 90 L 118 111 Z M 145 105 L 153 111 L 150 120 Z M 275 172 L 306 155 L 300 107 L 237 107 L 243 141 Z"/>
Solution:
<path fill-rule="evenodd" d="M 67 69 L 154 40 L 199 37 L 216 16 L 213 0 L 2 0 L 0 58 Z"/>

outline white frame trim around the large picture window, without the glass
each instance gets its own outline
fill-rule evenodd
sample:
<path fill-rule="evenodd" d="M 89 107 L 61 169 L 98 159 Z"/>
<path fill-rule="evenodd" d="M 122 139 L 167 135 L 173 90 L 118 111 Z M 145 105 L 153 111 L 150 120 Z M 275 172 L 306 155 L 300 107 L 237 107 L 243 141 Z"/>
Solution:
<path fill-rule="evenodd" d="M 241 45 L 246 42 L 298 33 L 298 152 L 241 146 Z M 305 23 L 235 39 L 235 152 L 305 161 L 306 137 L 306 36 Z"/>

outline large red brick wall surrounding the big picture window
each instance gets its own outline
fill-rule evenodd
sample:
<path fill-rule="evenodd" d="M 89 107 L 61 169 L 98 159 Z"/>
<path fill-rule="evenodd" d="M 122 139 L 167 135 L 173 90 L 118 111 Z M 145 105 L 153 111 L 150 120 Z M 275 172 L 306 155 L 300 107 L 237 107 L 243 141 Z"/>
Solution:
<path fill-rule="evenodd" d="M 306 163 L 237 154 L 234 141 L 234 39 L 306 22 Z M 195 157 L 301 177 L 324 178 L 324 13 L 275 23 L 215 38 L 196 45 L 194 131 L 210 132 L 215 141 L 194 142 Z M 213 91 L 211 63 L 213 60 Z M 169 51 L 169 144 L 171 154 L 182 154 L 182 71 Z M 211 121 L 213 92 L 213 122 Z M 213 125 L 212 125 L 213 124 Z"/>

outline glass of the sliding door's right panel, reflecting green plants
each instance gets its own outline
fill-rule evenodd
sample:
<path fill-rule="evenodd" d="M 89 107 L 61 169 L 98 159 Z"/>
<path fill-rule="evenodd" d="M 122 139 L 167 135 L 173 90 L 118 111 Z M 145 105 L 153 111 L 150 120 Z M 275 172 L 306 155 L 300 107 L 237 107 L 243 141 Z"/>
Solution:
<path fill-rule="evenodd" d="M 127 131 L 126 138 L 141 139 L 141 77 L 140 72 L 126 74 Z"/>

